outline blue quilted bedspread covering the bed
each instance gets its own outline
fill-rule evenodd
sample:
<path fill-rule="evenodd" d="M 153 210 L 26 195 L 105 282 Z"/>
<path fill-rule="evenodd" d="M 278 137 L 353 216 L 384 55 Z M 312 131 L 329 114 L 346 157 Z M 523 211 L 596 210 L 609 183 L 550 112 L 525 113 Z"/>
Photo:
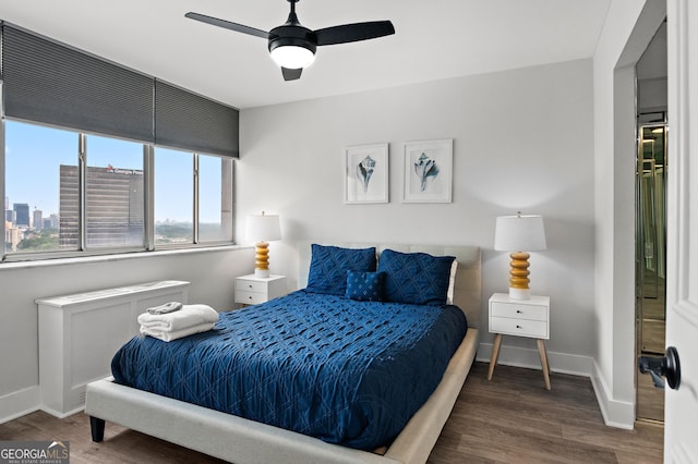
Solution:
<path fill-rule="evenodd" d="M 455 306 L 298 291 L 221 313 L 209 332 L 135 337 L 111 369 L 125 386 L 372 450 L 426 401 L 466 330 Z"/>

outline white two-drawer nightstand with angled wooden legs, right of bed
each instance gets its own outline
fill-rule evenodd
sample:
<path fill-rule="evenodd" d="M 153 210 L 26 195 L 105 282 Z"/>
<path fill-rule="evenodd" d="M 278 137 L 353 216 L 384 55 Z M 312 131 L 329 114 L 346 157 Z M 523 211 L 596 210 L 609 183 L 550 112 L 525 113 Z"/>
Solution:
<path fill-rule="evenodd" d="M 506 293 L 495 293 L 490 297 L 490 333 L 496 333 L 496 335 L 488 380 L 492 380 L 494 366 L 497 365 L 502 335 L 527 337 L 537 340 L 545 389 L 551 389 L 550 364 L 545 350 L 545 340 L 550 339 L 550 297 L 531 296 L 530 300 L 513 300 Z"/>

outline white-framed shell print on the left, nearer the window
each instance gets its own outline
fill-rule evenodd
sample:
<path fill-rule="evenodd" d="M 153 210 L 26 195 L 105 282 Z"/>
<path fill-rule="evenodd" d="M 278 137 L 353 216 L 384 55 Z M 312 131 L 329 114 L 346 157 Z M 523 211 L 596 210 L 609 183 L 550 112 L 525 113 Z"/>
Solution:
<path fill-rule="evenodd" d="M 388 144 L 345 147 L 345 204 L 388 203 Z"/>

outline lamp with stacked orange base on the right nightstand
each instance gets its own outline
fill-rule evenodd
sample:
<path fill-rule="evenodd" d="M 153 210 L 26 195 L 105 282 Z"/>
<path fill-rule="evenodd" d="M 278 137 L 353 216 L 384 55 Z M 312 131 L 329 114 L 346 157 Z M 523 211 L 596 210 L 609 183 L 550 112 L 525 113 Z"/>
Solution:
<path fill-rule="evenodd" d="M 501 216 L 494 232 L 494 249 L 512 252 L 509 297 L 529 300 L 529 254 L 545 249 L 545 229 L 542 216 Z"/>

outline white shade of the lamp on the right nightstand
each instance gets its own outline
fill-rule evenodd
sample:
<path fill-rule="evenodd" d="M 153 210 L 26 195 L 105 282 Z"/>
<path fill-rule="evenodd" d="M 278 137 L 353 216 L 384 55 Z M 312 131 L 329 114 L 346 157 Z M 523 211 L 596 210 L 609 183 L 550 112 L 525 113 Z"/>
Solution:
<path fill-rule="evenodd" d="M 494 249 L 538 252 L 545 249 L 542 216 L 500 216 L 494 232 Z"/>

